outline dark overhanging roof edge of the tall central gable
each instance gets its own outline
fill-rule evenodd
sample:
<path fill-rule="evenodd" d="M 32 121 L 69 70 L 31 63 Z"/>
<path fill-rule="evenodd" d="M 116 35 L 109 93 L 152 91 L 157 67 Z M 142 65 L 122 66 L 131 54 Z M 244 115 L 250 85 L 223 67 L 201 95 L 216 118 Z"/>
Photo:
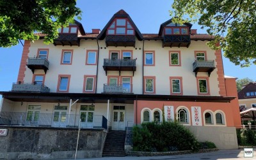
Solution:
<path fill-rule="evenodd" d="M 138 38 L 138 40 L 140 40 L 140 41 L 143 40 L 143 36 L 140 33 L 139 29 L 136 27 L 136 25 L 132 21 L 131 17 L 124 10 L 120 10 L 120 11 L 116 12 L 115 15 L 113 15 L 113 17 L 109 20 L 108 24 L 105 25 L 104 29 L 102 29 L 102 31 L 100 32 L 100 34 L 98 36 L 99 40 L 103 40 L 105 38 L 106 31 L 107 31 L 109 25 L 111 25 L 111 23 L 113 22 L 113 20 L 115 18 L 127 18 L 129 20 L 129 22 L 131 23 L 132 27 L 134 27 L 135 35 Z"/>

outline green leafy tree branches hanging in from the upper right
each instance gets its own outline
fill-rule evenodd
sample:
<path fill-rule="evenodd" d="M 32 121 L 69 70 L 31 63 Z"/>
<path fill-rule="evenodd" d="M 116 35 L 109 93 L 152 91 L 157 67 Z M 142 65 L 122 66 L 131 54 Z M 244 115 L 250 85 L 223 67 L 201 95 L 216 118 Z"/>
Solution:
<path fill-rule="evenodd" d="M 208 45 L 222 48 L 231 62 L 241 67 L 256 64 L 255 0 L 174 0 L 172 8 L 173 22 L 198 21 L 202 28 L 207 27 L 207 33 L 216 35 Z"/>

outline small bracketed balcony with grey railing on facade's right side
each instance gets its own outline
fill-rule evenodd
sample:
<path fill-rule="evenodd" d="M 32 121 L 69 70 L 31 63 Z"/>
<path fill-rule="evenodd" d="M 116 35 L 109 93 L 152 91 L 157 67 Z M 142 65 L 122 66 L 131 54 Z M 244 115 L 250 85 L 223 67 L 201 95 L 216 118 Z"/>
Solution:
<path fill-rule="evenodd" d="M 208 72 L 208 75 L 211 75 L 211 72 L 215 69 L 214 61 L 195 61 L 193 62 L 193 72 L 197 75 L 198 72 Z"/>

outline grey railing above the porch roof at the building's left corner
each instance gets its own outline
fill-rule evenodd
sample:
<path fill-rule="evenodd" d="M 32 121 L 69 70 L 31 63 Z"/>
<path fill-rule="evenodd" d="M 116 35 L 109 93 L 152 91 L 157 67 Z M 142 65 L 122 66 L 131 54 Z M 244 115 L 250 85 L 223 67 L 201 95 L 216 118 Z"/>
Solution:
<path fill-rule="evenodd" d="M 20 84 L 13 83 L 12 91 L 17 92 L 50 92 L 50 89 L 43 84 Z"/>

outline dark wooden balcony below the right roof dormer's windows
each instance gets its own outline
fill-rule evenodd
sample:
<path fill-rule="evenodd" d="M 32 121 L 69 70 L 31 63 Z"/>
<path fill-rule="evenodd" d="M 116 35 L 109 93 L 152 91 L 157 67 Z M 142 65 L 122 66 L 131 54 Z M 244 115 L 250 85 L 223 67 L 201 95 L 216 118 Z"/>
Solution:
<path fill-rule="evenodd" d="M 164 35 L 163 47 L 189 47 L 190 35 Z"/>

